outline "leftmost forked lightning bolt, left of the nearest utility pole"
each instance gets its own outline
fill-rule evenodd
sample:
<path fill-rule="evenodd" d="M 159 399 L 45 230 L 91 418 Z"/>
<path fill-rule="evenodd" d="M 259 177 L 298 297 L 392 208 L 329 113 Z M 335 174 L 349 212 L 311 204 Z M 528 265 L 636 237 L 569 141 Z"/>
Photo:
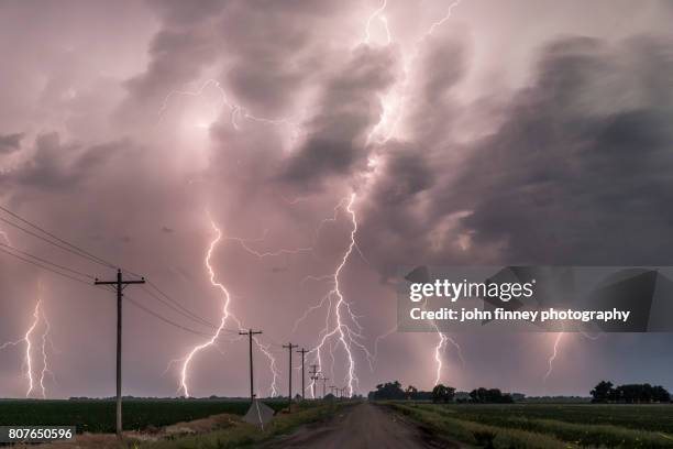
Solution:
<path fill-rule="evenodd" d="M 42 304 L 42 284 L 40 283 L 38 283 L 37 291 L 38 291 L 38 296 L 37 296 L 37 302 L 35 303 L 35 308 L 33 310 L 33 321 L 26 329 L 23 338 L 16 341 L 8 341 L 8 342 L 0 344 L 0 350 L 10 348 L 10 347 L 16 347 L 20 344 L 25 344 L 25 350 L 23 354 L 23 363 L 22 363 L 22 369 L 25 369 L 24 375 L 27 380 L 27 390 L 25 392 L 25 397 L 30 397 L 30 395 L 35 390 L 35 384 L 38 383 L 41 391 L 42 391 L 42 397 L 46 398 L 46 395 L 47 395 L 46 385 L 45 385 L 46 374 L 51 374 L 52 377 L 54 376 L 54 373 L 49 369 L 49 361 L 48 361 L 48 354 L 47 354 L 47 343 L 51 342 L 51 337 L 49 337 L 51 325 L 44 311 L 44 306 Z M 33 337 L 34 337 L 33 333 L 38 329 L 41 324 L 43 327 L 42 335 L 40 336 L 41 341 L 42 341 L 42 344 L 41 344 L 42 371 L 40 372 L 40 377 L 37 379 L 37 374 L 33 372 L 35 368 L 35 363 L 33 360 L 33 350 L 34 350 L 34 347 L 36 346 L 36 343 L 33 342 Z"/>

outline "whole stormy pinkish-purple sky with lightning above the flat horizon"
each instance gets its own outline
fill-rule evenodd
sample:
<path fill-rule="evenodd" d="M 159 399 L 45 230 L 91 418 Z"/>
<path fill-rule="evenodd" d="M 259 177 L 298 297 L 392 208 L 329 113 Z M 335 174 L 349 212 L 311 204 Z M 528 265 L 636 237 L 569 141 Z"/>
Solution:
<path fill-rule="evenodd" d="M 354 394 L 673 388 L 671 335 L 395 332 L 394 287 L 421 264 L 671 265 L 671 20 L 655 0 L 3 1 L 0 205 L 152 282 L 125 291 L 124 394 L 247 395 L 239 327 L 263 331 L 262 396 L 287 394 L 288 342 Z M 1 397 L 113 395 L 114 335 L 111 292 L 0 253 Z"/>

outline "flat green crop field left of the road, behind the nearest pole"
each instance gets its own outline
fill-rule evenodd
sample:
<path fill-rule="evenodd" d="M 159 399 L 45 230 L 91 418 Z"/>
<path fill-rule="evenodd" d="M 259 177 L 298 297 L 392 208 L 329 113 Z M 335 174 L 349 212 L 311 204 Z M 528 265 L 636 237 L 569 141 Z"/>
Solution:
<path fill-rule="evenodd" d="M 274 409 L 287 403 L 271 401 Z M 128 399 L 123 403 L 126 430 L 166 426 L 220 413 L 243 415 L 250 403 L 227 399 Z M 77 426 L 77 431 L 113 432 L 113 401 L 0 401 L 0 426 Z"/>

